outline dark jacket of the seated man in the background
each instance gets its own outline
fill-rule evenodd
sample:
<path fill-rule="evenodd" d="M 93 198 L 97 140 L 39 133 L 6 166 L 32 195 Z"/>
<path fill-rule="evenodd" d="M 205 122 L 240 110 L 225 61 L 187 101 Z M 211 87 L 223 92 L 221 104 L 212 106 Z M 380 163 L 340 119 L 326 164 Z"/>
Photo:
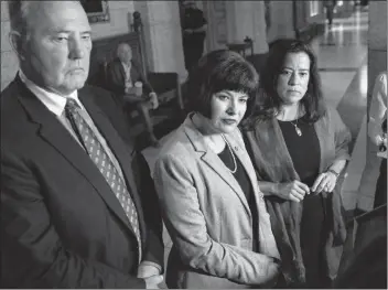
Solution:
<path fill-rule="evenodd" d="M 143 84 L 143 92 L 146 95 L 153 92 L 150 83 L 146 80 L 146 76 L 141 72 L 139 65 L 131 61 L 131 80 L 141 82 Z M 126 90 L 126 73 L 119 58 L 115 58 L 107 66 L 107 89 L 114 92 L 117 96 L 122 96 Z"/>

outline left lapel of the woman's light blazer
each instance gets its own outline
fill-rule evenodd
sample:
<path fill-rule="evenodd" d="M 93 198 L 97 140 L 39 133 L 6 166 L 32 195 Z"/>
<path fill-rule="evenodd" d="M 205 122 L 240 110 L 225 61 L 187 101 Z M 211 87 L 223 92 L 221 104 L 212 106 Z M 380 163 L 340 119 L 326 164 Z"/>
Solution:
<path fill-rule="evenodd" d="M 193 143 L 194 149 L 197 152 L 201 152 L 202 154 L 201 159 L 233 189 L 233 191 L 237 194 L 237 196 L 244 204 L 244 207 L 246 208 L 248 215 L 251 216 L 247 197 L 245 196 L 241 190 L 241 186 L 237 182 L 236 178 L 225 167 L 224 162 L 217 157 L 217 154 L 208 150 L 207 146 L 203 140 L 203 136 L 195 128 L 190 117 L 187 117 L 185 125 L 186 125 L 186 128 L 185 128 L 186 135 L 191 140 L 191 142 Z"/>

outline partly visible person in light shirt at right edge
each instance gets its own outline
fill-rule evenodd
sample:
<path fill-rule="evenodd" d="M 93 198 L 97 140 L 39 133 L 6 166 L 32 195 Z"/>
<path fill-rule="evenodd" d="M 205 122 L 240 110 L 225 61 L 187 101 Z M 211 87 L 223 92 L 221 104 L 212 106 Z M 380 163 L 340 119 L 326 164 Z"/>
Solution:
<path fill-rule="evenodd" d="M 380 174 L 376 184 L 374 207 L 387 203 L 387 72 L 376 77 L 369 108 L 368 136 L 379 147 Z"/>

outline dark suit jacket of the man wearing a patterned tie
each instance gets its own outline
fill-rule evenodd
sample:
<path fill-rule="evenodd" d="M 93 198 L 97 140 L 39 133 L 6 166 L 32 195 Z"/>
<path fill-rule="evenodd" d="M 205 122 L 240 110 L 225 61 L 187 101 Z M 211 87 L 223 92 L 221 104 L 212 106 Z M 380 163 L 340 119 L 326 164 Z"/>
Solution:
<path fill-rule="evenodd" d="M 143 260 L 163 266 L 153 182 L 144 160 L 122 141 L 121 111 L 105 90 L 85 87 L 78 96 L 132 193 Z M 2 92 L 1 116 L 2 288 L 144 288 L 136 278 L 136 236 L 120 203 L 80 146 L 19 77 Z"/>

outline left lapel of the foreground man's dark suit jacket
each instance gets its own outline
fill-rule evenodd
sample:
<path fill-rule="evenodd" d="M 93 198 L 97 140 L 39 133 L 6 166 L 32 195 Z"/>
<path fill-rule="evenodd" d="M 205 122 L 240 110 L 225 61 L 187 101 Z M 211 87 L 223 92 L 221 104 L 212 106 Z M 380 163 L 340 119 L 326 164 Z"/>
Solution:
<path fill-rule="evenodd" d="M 128 218 L 117 201 L 110 186 L 101 176 L 96 165 L 93 163 L 84 149 L 74 140 L 71 133 L 57 120 L 54 114 L 47 108 L 24 86 L 20 84 L 19 99 L 25 110 L 29 112 L 31 120 L 41 125 L 37 135 L 53 146 L 61 155 L 63 155 L 78 172 L 83 175 L 98 192 L 106 202 L 107 206 L 130 227 Z"/>

